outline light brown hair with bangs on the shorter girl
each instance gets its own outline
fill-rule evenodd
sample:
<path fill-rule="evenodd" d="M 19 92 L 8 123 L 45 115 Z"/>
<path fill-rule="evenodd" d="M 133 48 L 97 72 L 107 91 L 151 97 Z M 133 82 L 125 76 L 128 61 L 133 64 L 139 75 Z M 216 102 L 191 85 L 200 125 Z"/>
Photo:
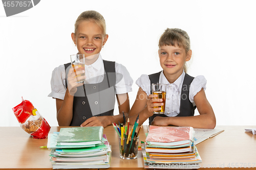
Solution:
<path fill-rule="evenodd" d="M 163 45 L 178 45 L 179 47 L 184 48 L 187 54 L 187 52 L 190 50 L 190 38 L 188 34 L 181 29 L 167 28 L 159 39 L 158 47 L 160 48 Z M 187 71 L 186 64 L 184 65 L 183 69 L 185 72 Z"/>

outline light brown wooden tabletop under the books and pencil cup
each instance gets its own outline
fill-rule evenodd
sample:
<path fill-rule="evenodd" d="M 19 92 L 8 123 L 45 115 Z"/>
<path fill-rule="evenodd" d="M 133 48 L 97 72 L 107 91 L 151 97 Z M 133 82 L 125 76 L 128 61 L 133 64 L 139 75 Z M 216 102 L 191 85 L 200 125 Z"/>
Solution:
<path fill-rule="evenodd" d="M 59 131 L 62 127 L 52 127 L 50 133 Z M 253 166 L 256 169 L 256 135 L 245 132 L 245 128 L 255 126 L 219 126 L 224 129 L 221 134 L 207 139 L 197 148 L 202 158 L 201 167 L 216 167 L 230 169 L 239 166 L 239 169 Z M 140 140 L 145 140 L 147 127 L 143 126 Z M 104 128 L 104 134 L 112 145 L 112 160 L 109 169 L 143 169 L 142 153 L 138 159 L 122 160 L 119 157 L 118 135 L 113 126 Z M 20 127 L 0 127 L 0 169 L 52 169 L 50 151 L 39 149 L 47 145 L 47 139 L 33 139 Z M 242 166 L 242 168 L 240 168 Z M 250 169 L 251 169 L 250 168 Z"/>

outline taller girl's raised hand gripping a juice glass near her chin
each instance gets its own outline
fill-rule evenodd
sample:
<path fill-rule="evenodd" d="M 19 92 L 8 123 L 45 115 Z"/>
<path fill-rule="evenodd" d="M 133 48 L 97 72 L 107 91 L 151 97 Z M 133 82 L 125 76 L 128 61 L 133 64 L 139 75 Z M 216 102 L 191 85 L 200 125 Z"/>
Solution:
<path fill-rule="evenodd" d="M 74 68 L 71 67 L 69 69 L 67 83 L 68 83 L 69 93 L 71 95 L 74 95 L 76 93 L 77 87 L 83 85 L 83 83 L 77 83 L 77 79 L 78 80 L 86 79 L 86 76 L 79 76 L 79 77 L 77 77 L 77 75 L 84 74 L 84 72 L 85 72 L 84 71 L 84 67 L 75 66 Z"/>

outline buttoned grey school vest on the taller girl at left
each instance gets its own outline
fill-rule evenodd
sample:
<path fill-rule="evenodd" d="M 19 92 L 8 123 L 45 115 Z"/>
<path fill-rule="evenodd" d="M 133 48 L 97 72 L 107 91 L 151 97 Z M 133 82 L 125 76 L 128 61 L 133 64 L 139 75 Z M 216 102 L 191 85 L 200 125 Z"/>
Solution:
<path fill-rule="evenodd" d="M 96 84 L 77 87 L 74 94 L 73 118 L 70 126 L 80 126 L 92 116 L 113 115 L 115 106 L 116 69 L 115 62 L 103 60 L 104 78 Z M 66 78 L 71 64 L 65 65 Z M 67 88 L 67 79 L 66 79 Z"/>

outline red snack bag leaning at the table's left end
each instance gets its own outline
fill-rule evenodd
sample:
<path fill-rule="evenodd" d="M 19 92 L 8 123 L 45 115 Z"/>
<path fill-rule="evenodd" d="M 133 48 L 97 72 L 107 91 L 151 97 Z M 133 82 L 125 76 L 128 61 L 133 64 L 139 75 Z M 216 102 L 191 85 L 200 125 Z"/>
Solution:
<path fill-rule="evenodd" d="M 12 108 L 20 127 L 33 136 L 34 139 L 45 139 L 51 129 L 46 119 L 34 108 L 30 101 L 24 101 Z"/>

